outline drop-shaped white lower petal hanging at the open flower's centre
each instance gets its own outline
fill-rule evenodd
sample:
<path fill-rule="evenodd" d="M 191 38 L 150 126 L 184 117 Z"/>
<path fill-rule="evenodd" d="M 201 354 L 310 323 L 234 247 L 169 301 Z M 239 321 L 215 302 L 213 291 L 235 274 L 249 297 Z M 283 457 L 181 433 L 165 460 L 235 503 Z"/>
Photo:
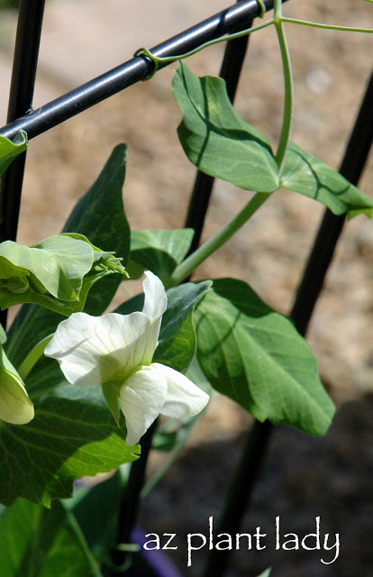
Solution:
<path fill-rule="evenodd" d="M 167 379 L 153 365 L 141 367 L 123 385 L 119 404 L 127 426 L 127 444 L 136 444 L 159 416 L 167 394 Z"/>

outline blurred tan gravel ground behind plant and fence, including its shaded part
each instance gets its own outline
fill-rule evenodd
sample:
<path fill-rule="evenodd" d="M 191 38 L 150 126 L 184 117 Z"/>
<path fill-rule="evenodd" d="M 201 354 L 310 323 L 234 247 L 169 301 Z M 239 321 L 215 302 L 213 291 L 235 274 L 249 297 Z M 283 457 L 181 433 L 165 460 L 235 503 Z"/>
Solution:
<path fill-rule="evenodd" d="M 16 3 L 0 2 L 0 6 L 10 4 Z M 151 48 L 228 5 L 226 0 L 110 0 L 105 6 L 101 0 L 48 1 L 34 107 L 129 60 L 138 48 Z M 373 27 L 373 7 L 362 0 L 291 0 L 284 12 L 315 22 Z M 15 26 L 16 11 L 5 7 L 0 12 L 1 125 L 6 118 Z M 294 25 L 287 25 L 287 34 L 295 77 L 293 140 L 337 169 L 370 73 L 372 36 Z M 215 75 L 222 56 L 221 44 L 199 53 L 188 65 L 199 75 Z M 177 141 L 181 114 L 170 89 L 174 69 L 171 65 L 159 71 L 150 81 L 112 96 L 30 142 L 20 243 L 36 243 L 59 233 L 77 198 L 119 142 L 129 147 L 123 198 L 132 229 L 184 224 L 195 169 Z M 282 94 L 277 39 L 266 29 L 250 39 L 236 108 L 266 133 L 273 147 L 281 125 Z M 360 188 L 373 195 L 372 183 L 370 157 Z M 247 192 L 217 183 L 204 238 L 226 223 L 247 198 Z M 314 201 L 278 192 L 197 271 L 196 278 L 244 279 L 268 305 L 287 314 L 322 214 L 323 206 Z M 372 257 L 373 225 L 359 216 L 346 224 L 307 335 L 322 379 L 340 408 L 338 415 L 325 439 L 278 429 L 253 512 L 244 526 L 248 531 L 250 523 L 254 529 L 264 528 L 266 522 L 273 526 L 274 518 L 281 515 L 287 531 L 302 532 L 305 527 L 307 533 L 320 515 L 325 531 L 341 533 L 340 557 L 332 565 L 323 565 L 318 552 L 281 556 L 268 550 L 259 559 L 240 552 L 234 556 L 230 577 L 255 575 L 268 564 L 274 567 L 273 577 L 371 575 Z M 118 300 L 137 289 L 138 285 L 126 283 Z M 217 518 L 248 422 L 249 417 L 230 401 L 214 399 L 187 453 L 146 501 L 143 519 L 149 531 L 182 535 L 207 530 L 209 515 Z M 195 483 L 196 475 L 198 479 L 202 475 L 204 482 Z M 188 492 L 192 486 L 194 490 Z M 155 519 L 151 527 L 150 518 Z M 195 575 L 204 555 L 203 551 L 196 554 L 188 570 L 183 552 L 177 562 L 186 574 Z"/>

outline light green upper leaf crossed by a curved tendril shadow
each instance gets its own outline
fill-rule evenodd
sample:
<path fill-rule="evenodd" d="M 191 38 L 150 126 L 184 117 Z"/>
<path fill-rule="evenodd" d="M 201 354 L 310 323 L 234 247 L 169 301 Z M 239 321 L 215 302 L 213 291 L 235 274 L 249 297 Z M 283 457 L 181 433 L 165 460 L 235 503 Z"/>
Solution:
<path fill-rule="evenodd" d="M 178 138 L 198 169 L 245 190 L 277 190 L 268 139 L 235 112 L 222 78 L 198 78 L 179 62 L 172 90 L 183 111 Z"/>

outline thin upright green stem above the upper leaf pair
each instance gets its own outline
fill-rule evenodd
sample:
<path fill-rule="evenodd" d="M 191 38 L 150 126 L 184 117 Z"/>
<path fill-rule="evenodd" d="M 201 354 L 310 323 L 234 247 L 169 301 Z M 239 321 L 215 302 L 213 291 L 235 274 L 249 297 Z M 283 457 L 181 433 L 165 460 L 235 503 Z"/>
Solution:
<path fill-rule="evenodd" d="M 277 3 L 278 4 L 278 3 Z M 277 4 L 275 5 L 275 14 L 277 10 Z M 279 4 L 281 7 L 281 4 Z M 281 175 L 281 171 L 284 166 L 285 156 L 287 153 L 287 144 L 290 139 L 291 124 L 293 116 L 293 78 L 291 71 L 290 54 L 287 48 L 287 38 L 284 31 L 284 26 L 282 22 L 282 16 L 279 15 L 278 18 L 275 17 L 275 28 L 277 32 L 278 44 L 281 52 L 282 68 L 284 73 L 284 115 L 282 120 L 281 134 L 278 141 L 276 162 L 278 172 Z"/>

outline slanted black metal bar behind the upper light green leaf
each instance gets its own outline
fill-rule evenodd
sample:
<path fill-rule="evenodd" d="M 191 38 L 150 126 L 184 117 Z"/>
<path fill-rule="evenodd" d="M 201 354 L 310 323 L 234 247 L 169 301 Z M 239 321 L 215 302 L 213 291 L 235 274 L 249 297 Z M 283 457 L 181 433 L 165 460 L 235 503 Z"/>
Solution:
<path fill-rule="evenodd" d="M 252 20 L 244 23 L 245 28 L 250 28 Z M 246 50 L 249 44 L 250 36 L 242 36 L 236 40 L 227 42 L 222 68 L 219 76 L 225 80 L 227 93 L 231 100 L 234 101 L 238 87 L 243 61 L 245 60 Z M 195 252 L 201 240 L 202 230 L 205 224 L 205 216 L 210 203 L 210 197 L 214 188 L 214 177 L 196 171 L 195 185 L 190 197 L 187 210 L 185 227 L 193 228 L 195 235 L 190 245 L 188 254 Z"/>

